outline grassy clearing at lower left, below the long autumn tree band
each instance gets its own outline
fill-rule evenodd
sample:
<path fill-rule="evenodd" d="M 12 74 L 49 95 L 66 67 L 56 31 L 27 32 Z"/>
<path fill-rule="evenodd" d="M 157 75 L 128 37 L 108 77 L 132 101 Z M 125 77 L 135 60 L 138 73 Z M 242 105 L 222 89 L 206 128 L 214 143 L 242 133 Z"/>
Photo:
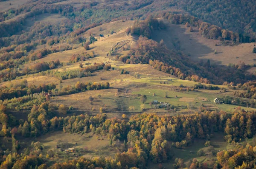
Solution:
<path fill-rule="evenodd" d="M 59 140 L 66 142 L 67 148 L 75 148 L 78 149 L 78 151 L 71 153 L 57 149 L 56 145 Z M 93 135 L 92 132 L 70 134 L 59 131 L 40 136 L 33 141 L 40 141 L 40 143 L 43 144 L 44 149 L 42 150 L 42 154 L 44 156 L 46 156 L 47 151 L 50 149 L 55 152 L 55 156 L 50 158 L 50 163 L 64 161 L 65 158 L 70 160 L 75 159 L 77 156 L 84 156 L 90 159 L 99 158 L 100 156 L 114 158 L 116 152 L 122 147 L 122 141 L 113 141 L 111 146 L 107 135 L 96 136 L 96 134 Z"/>

